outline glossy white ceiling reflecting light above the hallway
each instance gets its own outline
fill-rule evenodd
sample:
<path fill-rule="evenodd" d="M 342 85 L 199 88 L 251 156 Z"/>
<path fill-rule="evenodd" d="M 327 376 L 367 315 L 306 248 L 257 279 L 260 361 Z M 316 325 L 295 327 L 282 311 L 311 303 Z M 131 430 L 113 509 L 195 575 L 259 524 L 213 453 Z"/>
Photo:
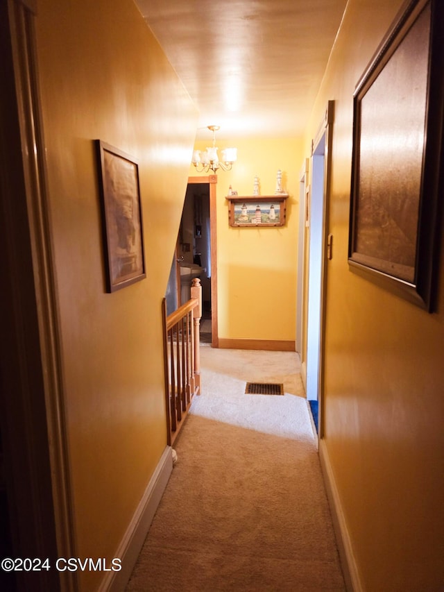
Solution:
<path fill-rule="evenodd" d="M 347 0 L 135 0 L 199 112 L 198 137 L 300 135 Z"/>

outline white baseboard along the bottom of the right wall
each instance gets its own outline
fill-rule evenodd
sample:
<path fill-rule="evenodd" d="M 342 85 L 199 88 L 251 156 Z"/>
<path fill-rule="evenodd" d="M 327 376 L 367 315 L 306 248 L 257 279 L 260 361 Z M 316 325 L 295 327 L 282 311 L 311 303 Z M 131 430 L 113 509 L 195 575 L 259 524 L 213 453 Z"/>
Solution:
<path fill-rule="evenodd" d="M 345 516 L 341 506 L 341 499 L 336 488 L 332 465 L 328 456 L 327 445 L 325 440 L 319 441 L 319 458 L 321 459 L 321 467 L 324 475 L 325 489 L 330 501 L 330 509 L 332 511 L 333 527 L 336 533 L 336 541 L 339 548 L 339 556 L 341 557 L 341 565 L 345 586 L 348 592 L 362 592 L 364 588 L 361 584 L 361 577 L 353 553 L 352 541 L 348 533 Z"/>

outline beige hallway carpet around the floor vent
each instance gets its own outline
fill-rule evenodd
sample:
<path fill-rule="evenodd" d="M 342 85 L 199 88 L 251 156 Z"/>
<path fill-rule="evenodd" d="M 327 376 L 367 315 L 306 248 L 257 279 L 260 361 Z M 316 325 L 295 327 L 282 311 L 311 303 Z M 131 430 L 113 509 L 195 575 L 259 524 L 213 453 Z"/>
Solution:
<path fill-rule="evenodd" d="M 344 591 L 297 355 L 200 355 L 203 394 L 127 591 Z M 285 394 L 245 394 L 253 381 Z"/>

